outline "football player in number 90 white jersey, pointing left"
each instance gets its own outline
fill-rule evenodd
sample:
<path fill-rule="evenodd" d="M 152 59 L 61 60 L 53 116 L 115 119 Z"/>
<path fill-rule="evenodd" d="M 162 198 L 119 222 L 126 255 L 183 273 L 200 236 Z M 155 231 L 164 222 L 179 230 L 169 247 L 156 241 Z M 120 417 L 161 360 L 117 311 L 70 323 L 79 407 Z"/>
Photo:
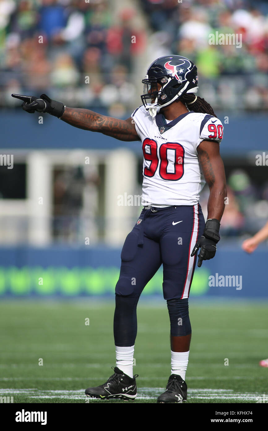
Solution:
<path fill-rule="evenodd" d="M 215 256 L 227 195 L 219 153 L 223 126 L 209 103 L 196 95 L 197 68 L 191 60 L 177 55 L 158 58 L 142 82 L 142 105 L 126 120 L 69 108 L 46 94 L 39 98 L 12 96 L 23 100 L 22 108 L 27 112 L 48 112 L 74 127 L 121 141 L 142 142 L 144 209 L 123 245 L 115 287 L 116 366 L 105 384 L 89 387 L 86 395 L 135 399 L 136 307 L 142 290 L 163 264 L 171 375 L 157 402 L 182 403 L 187 399 L 185 373 L 191 341 L 188 297 L 197 252 L 198 267 Z M 210 191 L 206 223 L 199 204 L 205 182 Z"/>

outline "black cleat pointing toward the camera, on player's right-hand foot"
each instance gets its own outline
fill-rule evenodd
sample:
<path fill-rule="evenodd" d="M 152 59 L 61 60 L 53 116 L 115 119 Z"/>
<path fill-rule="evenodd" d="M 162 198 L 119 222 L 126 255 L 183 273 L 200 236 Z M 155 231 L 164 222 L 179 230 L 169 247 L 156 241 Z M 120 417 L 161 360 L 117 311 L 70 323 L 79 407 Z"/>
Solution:
<path fill-rule="evenodd" d="M 182 403 L 187 400 L 187 384 L 177 374 L 172 374 L 166 390 L 157 398 L 157 403 Z"/>

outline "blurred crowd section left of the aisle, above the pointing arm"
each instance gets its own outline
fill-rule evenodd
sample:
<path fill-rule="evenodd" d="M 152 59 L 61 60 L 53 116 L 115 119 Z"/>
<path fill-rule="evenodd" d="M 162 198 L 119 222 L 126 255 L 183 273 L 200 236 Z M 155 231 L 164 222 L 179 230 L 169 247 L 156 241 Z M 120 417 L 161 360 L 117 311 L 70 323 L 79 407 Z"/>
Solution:
<path fill-rule="evenodd" d="M 124 115 L 135 94 L 129 72 L 144 50 L 144 32 L 132 29 L 134 15 L 122 9 L 116 23 L 106 0 L 0 0 L 0 103 L 17 104 L 11 89 L 46 91 L 73 106 L 113 111 L 119 103 L 115 109 Z"/>

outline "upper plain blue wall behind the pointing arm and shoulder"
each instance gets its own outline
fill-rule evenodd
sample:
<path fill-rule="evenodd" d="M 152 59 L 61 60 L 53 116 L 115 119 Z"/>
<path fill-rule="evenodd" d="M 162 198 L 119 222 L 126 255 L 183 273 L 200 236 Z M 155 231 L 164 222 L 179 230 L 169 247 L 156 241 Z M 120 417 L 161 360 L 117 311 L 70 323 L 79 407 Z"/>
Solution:
<path fill-rule="evenodd" d="M 129 114 L 130 115 L 130 114 Z M 222 155 L 240 155 L 252 150 L 268 150 L 266 114 L 219 115 L 224 125 Z M 126 116 L 127 117 L 127 116 Z M 86 148 L 111 149 L 127 147 L 141 154 L 141 145 L 136 142 L 122 142 L 101 133 L 80 130 L 61 120 L 43 115 L 43 124 L 38 124 L 37 114 L 27 114 L 19 110 L 2 111 L 0 115 L 1 147 L 6 148 Z"/>

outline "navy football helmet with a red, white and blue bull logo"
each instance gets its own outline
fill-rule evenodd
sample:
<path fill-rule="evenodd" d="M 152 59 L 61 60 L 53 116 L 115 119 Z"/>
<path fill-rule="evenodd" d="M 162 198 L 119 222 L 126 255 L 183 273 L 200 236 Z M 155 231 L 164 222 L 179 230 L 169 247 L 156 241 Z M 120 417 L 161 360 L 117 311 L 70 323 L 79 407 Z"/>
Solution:
<path fill-rule="evenodd" d="M 197 67 L 180 55 L 160 57 L 149 66 L 142 83 L 142 103 L 154 118 L 161 108 L 179 100 L 183 94 L 197 92 Z M 157 83 L 161 85 L 160 90 Z"/>

